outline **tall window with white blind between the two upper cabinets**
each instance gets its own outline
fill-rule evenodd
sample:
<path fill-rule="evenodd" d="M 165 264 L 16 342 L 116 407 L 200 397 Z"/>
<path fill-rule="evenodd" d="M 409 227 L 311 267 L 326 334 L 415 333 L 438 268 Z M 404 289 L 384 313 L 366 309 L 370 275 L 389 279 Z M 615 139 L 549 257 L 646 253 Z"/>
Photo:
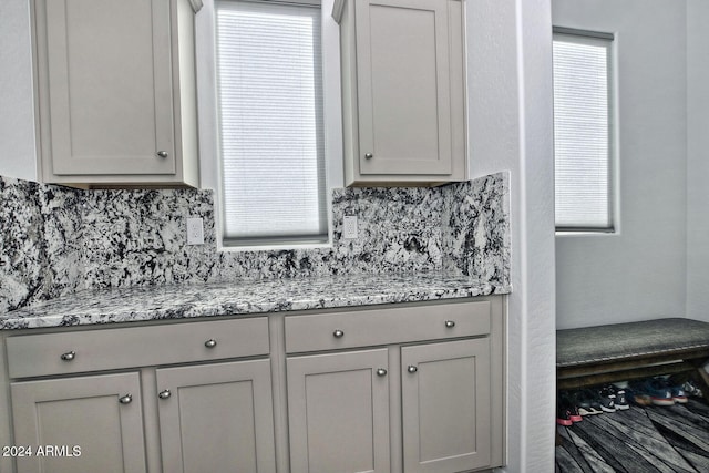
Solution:
<path fill-rule="evenodd" d="M 216 2 L 226 245 L 327 240 L 318 7 Z"/>

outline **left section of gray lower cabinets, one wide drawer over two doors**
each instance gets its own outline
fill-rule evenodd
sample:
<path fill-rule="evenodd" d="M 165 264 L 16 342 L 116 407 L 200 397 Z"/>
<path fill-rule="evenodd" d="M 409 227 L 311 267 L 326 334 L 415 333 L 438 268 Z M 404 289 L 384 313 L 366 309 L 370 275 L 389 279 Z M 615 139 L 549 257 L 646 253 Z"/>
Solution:
<path fill-rule="evenodd" d="M 0 340 L 19 473 L 276 472 L 266 317 Z"/>

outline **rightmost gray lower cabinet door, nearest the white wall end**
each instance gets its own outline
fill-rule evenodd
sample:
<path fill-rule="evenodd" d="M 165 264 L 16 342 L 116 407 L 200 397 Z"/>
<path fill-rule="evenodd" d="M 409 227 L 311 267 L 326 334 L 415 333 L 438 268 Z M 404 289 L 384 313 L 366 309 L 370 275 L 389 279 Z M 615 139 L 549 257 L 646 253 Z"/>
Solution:
<path fill-rule="evenodd" d="M 490 340 L 401 349 L 407 473 L 451 473 L 491 462 Z"/>

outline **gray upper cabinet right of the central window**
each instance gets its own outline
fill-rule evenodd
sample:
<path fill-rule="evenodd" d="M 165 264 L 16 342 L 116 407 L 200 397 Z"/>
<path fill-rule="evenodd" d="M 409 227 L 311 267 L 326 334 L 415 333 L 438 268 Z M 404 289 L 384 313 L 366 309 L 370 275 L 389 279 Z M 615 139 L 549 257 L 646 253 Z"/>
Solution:
<path fill-rule="evenodd" d="M 466 178 L 461 0 L 338 0 L 346 185 Z"/>

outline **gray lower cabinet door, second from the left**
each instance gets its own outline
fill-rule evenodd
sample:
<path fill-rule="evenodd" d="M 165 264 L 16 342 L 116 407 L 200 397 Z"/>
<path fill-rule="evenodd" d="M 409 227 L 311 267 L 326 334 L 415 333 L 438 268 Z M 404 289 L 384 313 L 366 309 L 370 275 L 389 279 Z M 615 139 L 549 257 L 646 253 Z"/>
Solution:
<path fill-rule="evenodd" d="M 276 471 L 269 360 L 156 370 L 163 471 Z"/>

